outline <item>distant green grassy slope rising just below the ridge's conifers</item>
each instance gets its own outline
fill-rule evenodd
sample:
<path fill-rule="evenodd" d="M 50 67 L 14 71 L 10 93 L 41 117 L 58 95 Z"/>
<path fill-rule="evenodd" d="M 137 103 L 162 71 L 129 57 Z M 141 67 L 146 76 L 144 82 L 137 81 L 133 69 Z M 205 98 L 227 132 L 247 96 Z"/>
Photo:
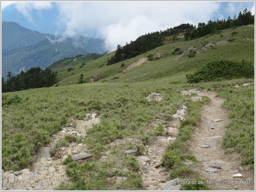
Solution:
<path fill-rule="evenodd" d="M 203 38 L 192 41 L 184 41 L 184 39 L 177 41 L 166 41 L 165 45 L 155 48 L 154 50 L 151 50 L 145 54 L 106 66 L 107 60 L 114 54 L 114 52 L 112 52 L 88 63 L 82 68 L 75 69 L 70 72 L 63 71 L 59 73 L 58 86 L 76 84 L 81 73 L 84 75 L 84 80 L 86 82 L 90 82 L 90 78 L 95 76 L 99 76 L 101 79 L 106 79 L 108 82 L 141 82 L 150 80 L 152 78 L 172 76 L 176 73 L 182 73 L 184 71 L 192 72 L 207 62 L 216 59 L 235 61 L 245 59 L 253 62 L 254 60 L 252 55 L 254 55 L 254 27 L 237 27 L 235 31 L 238 33 L 234 35 L 235 40 L 228 41 L 228 38 L 232 37 L 231 33 L 233 31 L 234 29 L 227 29 L 221 31 L 219 34 L 206 36 L 204 38 L 204 43 L 214 43 L 216 47 L 207 48 L 205 51 L 202 51 L 202 48 L 205 47 L 205 45 L 202 45 Z M 202 52 L 196 54 L 196 56 L 192 58 L 186 58 L 186 56 L 183 56 L 180 59 L 175 60 L 175 58 L 178 56 L 172 54 L 175 48 L 187 50 L 190 47 L 197 48 Z M 125 73 L 122 72 L 123 69 L 136 62 L 138 59 L 147 56 L 148 54 L 159 53 L 162 53 L 161 59 L 144 63 L 143 65 L 139 65 L 129 71 L 126 71 Z M 124 63 L 125 66 L 121 67 L 121 63 Z M 119 78 L 113 79 L 115 76 Z"/>

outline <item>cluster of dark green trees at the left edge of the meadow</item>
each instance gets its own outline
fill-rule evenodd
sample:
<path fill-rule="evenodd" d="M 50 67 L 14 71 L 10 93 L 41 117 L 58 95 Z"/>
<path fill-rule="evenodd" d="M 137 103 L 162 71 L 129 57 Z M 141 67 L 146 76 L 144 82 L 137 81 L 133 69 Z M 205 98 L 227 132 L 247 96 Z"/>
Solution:
<path fill-rule="evenodd" d="M 16 76 L 8 72 L 6 77 L 6 81 L 2 77 L 2 93 L 50 87 L 56 83 L 57 74 L 49 68 L 42 70 L 40 67 L 34 67 L 26 72 L 21 71 Z"/>

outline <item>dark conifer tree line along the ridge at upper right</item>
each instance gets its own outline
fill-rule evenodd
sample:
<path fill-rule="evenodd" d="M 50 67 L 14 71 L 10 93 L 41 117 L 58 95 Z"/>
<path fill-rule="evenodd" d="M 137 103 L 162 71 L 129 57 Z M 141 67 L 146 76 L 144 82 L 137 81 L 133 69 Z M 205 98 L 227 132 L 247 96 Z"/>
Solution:
<path fill-rule="evenodd" d="M 151 32 L 138 37 L 135 41 L 131 41 L 130 43 L 126 42 L 123 47 L 118 45 L 114 56 L 108 60 L 107 65 L 112 65 L 114 63 L 136 57 L 137 55 L 162 46 L 165 37 L 174 36 L 178 33 L 186 32 L 184 34 L 184 38 L 188 41 L 204 37 L 207 34 L 215 33 L 219 30 L 248 24 L 254 24 L 254 15 L 252 15 L 252 12 L 250 10 L 248 11 L 246 8 L 243 13 L 240 11 L 237 18 L 235 15 L 233 19 L 229 17 L 228 20 L 217 19 L 217 21 L 210 20 L 207 24 L 198 23 L 198 27 L 187 23 L 180 24 L 174 28 L 168 28 L 164 31 Z M 175 38 L 173 39 L 175 40 Z"/>

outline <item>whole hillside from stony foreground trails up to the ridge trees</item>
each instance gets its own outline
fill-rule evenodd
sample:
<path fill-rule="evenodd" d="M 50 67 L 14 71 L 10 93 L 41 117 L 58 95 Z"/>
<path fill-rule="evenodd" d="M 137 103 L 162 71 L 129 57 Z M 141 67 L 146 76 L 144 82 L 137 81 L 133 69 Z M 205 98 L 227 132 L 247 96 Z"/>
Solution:
<path fill-rule="evenodd" d="M 76 65 L 54 86 L 3 93 L 2 189 L 253 190 L 254 78 L 186 75 L 252 65 L 254 25 L 170 39 L 113 65 L 59 60 Z"/>

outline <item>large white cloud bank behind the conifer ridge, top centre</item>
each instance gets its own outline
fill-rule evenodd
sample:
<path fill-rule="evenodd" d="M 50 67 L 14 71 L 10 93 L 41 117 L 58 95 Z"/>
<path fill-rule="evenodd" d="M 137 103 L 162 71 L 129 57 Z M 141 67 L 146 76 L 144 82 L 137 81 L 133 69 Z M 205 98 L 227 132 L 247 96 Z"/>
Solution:
<path fill-rule="evenodd" d="M 181 23 L 197 25 L 211 17 L 216 2 L 59 2 L 59 29 L 74 35 L 96 29 L 106 48 L 135 40 L 148 32 L 165 30 Z"/>

